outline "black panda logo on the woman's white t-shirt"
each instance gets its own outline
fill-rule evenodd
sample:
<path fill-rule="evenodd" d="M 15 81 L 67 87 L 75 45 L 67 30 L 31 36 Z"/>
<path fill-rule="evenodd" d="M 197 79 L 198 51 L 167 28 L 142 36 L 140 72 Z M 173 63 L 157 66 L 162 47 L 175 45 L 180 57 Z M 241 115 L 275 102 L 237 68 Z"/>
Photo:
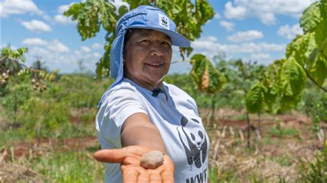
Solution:
<path fill-rule="evenodd" d="M 196 130 L 192 130 L 190 128 L 186 129 L 186 126 L 192 122 L 200 125 L 198 120 L 191 118 L 189 121 L 186 117 L 183 116 L 181 118 L 181 130 L 179 130 L 177 127 L 177 131 L 179 134 L 179 140 L 181 140 L 181 144 L 183 144 L 188 164 L 195 164 L 195 166 L 199 169 L 201 168 L 202 164 L 206 162 L 208 142 L 205 135 L 206 133 L 199 130 L 201 128 Z M 187 142 L 184 142 L 185 140 L 181 138 L 181 133 L 184 133 Z"/>

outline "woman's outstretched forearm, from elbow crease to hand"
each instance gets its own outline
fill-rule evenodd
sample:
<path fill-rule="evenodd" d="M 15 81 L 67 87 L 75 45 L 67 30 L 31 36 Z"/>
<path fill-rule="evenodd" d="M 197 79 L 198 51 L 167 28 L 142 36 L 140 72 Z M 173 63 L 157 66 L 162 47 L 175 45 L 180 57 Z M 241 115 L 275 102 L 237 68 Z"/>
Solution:
<path fill-rule="evenodd" d="M 154 125 L 128 125 L 121 131 L 123 146 L 139 145 L 166 153 L 164 141 Z"/>

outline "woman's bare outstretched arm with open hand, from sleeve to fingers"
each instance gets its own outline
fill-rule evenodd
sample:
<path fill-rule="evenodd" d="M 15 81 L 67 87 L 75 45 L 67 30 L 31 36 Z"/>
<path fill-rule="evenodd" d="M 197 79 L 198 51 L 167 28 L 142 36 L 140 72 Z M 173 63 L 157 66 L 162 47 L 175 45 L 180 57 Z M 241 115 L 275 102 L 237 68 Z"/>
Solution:
<path fill-rule="evenodd" d="M 120 163 L 123 182 L 174 182 L 174 163 L 166 154 L 159 130 L 146 114 L 136 113 L 128 117 L 121 129 L 121 139 L 123 148 L 102 149 L 95 153 L 95 159 Z M 164 162 L 155 169 L 144 169 L 141 157 L 152 150 L 164 152 Z"/>

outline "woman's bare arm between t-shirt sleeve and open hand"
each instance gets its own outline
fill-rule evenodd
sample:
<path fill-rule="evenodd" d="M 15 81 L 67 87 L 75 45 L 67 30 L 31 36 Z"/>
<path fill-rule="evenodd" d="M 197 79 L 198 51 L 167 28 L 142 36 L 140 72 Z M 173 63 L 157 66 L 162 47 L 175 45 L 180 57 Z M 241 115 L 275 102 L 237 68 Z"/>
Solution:
<path fill-rule="evenodd" d="M 164 141 L 146 114 L 136 113 L 128 117 L 121 128 L 123 147 L 142 146 L 166 153 Z"/>

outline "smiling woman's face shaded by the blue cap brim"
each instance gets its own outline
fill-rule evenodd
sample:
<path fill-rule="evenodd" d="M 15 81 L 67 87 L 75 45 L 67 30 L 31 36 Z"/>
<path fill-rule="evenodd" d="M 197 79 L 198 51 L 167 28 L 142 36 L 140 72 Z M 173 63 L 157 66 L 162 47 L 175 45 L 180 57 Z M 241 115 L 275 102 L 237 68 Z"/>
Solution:
<path fill-rule="evenodd" d="M 172 58 L 170 37 L 156 30 L 139 29 L 125 45 L 125 76 L 146 89 L 161 87 Z"/>

